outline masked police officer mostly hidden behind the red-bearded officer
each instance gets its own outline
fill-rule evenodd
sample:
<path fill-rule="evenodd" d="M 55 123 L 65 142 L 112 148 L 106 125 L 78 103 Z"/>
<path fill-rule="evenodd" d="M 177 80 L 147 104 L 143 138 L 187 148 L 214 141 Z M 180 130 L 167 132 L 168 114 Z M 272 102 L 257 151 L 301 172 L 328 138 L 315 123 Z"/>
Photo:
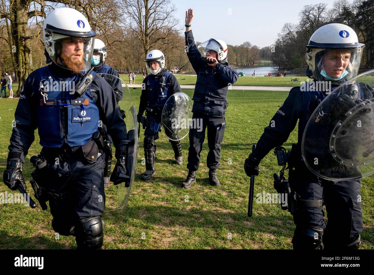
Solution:
<path fill-rule="evenodd" d="M 100 39 L 95 38 L 95 43 L 93 45 L 93 55 L 92 55 L 92 62 L 91 65 L 94 66 L 93 70 L 95 73 L 102 73 L 102 74 L 111 74 L 113 78 L 110 78 L 110 84 L 112 85 L 112 88 L 114 90 L 114 93 L 116 95 L 117 104 L 119 104 L 123 97 L 123 89 L 122 89 L 122 83 L 119 79 L 119 74 L 116 70 L 114 70 L 109 65 L 105 64 L 105 59 L 107 58 L 107 47 L 105 46 L 104 42 L 102 42 Z M 108 77 L 107 77 L 108 79 Z M 118 109 L 121 112 L 121 116 L 125 118 L 125 111 L 121 110 L 119 105 Z M 103 125 L 103 128 L 106 130 L 106 126 Z M 106 137 L 106 147 L 108 149 L 108 153 L 105 155 L 105 169 L 104 169 L 104 186 L 108 187 L 110 182 L 110 169 L 112 164 L 112 138 L 110 135 L 107 135 Z M 110 153 L 109 153 L 110 152 Z"/>

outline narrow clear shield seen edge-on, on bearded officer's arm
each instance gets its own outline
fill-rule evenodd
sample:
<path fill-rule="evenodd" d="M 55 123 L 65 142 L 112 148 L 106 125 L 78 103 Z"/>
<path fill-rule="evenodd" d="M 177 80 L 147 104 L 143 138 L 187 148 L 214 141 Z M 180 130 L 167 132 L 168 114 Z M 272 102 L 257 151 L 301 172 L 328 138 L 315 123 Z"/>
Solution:
<path fill-rule="evenodd" d="M 137 128 L 137 111 L 134 106 L 131 106 L 130 110 L 126 114 L 126 129 L 127 129 L 127 158 L 126 158 L 126 169 L 128 180 L 118 185 L 118 198 L 120 210 L 123 211 L 126 208 L 127 201 L 129 199 L 132 184 L 135 179 L 135 171 L 137 169 L 138 162 L 138 128 Z"/>

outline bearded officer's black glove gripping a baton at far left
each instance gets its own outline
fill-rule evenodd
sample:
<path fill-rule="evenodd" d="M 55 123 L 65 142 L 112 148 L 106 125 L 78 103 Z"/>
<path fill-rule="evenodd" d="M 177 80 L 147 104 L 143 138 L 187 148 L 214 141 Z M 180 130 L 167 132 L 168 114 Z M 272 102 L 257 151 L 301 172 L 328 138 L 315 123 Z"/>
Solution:
<path fill-rule="evenodd" d="M 6 170 L 3 174 L 3 180 L 6 186 L 11 190 L 15 191 L 18 189 L 18 186 L 21 186 L 26 190 L 26 183 L 22 175 L 22 161 L 8 161 L 6 164 Z"/>

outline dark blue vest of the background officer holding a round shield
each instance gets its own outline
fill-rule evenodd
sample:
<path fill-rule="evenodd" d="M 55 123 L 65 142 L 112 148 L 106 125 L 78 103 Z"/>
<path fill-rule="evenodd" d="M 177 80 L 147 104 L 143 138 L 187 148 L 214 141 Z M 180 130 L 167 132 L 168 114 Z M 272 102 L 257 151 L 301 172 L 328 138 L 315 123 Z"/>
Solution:
<path fill-rule="evenodd" d="M 171 73 L 165 71 L 162 77 L 155 78 L 153 74 L 147 76 L 147 89 L 148 89 L 148 105 L 150 107 L 164 106 L 166 100 L 170 97 L 169 94 L 169 76 Z M 162 88 L 160 81 L 165 78 L 165 85 Z"/>

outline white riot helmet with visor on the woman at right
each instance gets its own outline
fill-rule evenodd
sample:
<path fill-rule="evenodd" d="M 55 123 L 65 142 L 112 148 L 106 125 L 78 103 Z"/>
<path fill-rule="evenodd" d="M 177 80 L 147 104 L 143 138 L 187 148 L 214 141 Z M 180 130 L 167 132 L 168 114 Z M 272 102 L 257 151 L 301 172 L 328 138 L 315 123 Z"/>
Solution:
<path fill-rule="evenodd" d="M 312 77 L 337 84 L 355 77 L 364 46 L 347 25 L 322 26 L 312 34 L 307 45 L 305 58 Z"/>

